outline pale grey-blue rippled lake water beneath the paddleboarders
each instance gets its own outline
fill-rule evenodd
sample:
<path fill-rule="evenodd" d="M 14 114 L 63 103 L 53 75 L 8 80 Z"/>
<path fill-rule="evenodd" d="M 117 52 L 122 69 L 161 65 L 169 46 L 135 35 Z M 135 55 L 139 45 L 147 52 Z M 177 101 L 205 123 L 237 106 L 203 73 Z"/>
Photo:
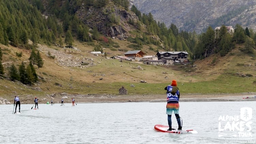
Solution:
<path fill-rule="evenodd" d="M 31 109 L 32 104 L 26 104 L 21 105 L 21 114 L 12 114 L 13 105 L 0 105 L 0 143 L 256 143 L 254 101 L 180 102 L 183 130 L 194 129 L 198 134 L 155 131 L 156 124 L 168 125 L 165 106 L 165 102 L 77 103 L 73 107 L 71 103 L 65 106 L 39 103 L 37 110 Z M 249 109 L 244 111 L 244 107 Z M 249 119 L 226 119 L 227 116 L 239 117 L 244 112 Z M 220 116 L 225 118 L 219 119 Z M 219 123 L 220 129 L 224 129 L 233 121 L 238 122 L 233 125 L 234 131 L 226 127 L 219 133 Z M 240 126 L 244 130 L 239 135 Z M 172 127 L 178 127 L 174 116 Z"/>

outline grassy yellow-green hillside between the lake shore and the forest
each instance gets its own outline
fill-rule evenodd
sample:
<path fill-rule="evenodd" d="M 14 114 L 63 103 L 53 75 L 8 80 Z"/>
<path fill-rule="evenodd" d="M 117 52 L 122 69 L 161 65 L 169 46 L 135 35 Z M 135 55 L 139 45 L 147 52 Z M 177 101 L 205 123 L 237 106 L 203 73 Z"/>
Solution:
<path fill-rule="evenodd" d="M 118 40 L 115 40 L 118 41 Z M 120 42 L 120 49 L 127 42 Z M 14 63 L 17 68 L 21 61 L 28 61 L 30 50 L 19 49 L 12 46 L 0 45 L 3 52 L 3 66 L 5 73 L 8 67 Z M 66 92 L 69 94 L 118 94 L 119 89 L 124 86 L 130 95 L 159 95 L 165 94 L 164 87 L 176 79 L 181 93 L 244 93 L 254 92 L 256 89 L 256 61 L 255 58 L 244 55 L 237 45 L 236 49 L 225 57 L 211 55 L 204 60 L 198 60 L 192 65 L 175 66 L 153 66 L 145 65 L 136 61 L 122 61 L 117 59 L 106 59 L 103 56 L 90 54 L 93 47 L 85 43 L 75 42 L 74 49 L 63 49 L 60 47 L 47 47 L 38 45 L 41 56 L 44 59 L 44 67 L 36 69 L 40 80 L 32 86 L 19 82 L 1 79 L 0 96 L 8 97 L 14 94 L 42 95 Z M 88 67 L 69 67 L 61 65 L 56 57 L 47 57 L 48 51 L 58 50 L 63 55 L 73 55 L 73 62 L 89 60 L 95 65 Z M 112 51 L 107 57 L 121 55 L 124 52 Z M 22 52 L 18 58 L 16 52 Z M 149 54 L 156 52 L 148 50 Z M 51 53 L 54 55 L 55 53 Z M 65 61 L 65 60 L 64 60 Z M 11 62 L 11 63 L 9 63 Z M 28 64 L 28 62 L 26 62 Z M 142 67 L 137 69 L 137 66 Z M 244 76 L 247 75 L 247 76 Z M 248 77 L 249 76 L 249 77 Z M 168 79 L 166 79 L 166 77 Z M 103 78 L 102 80 L 100 80 Z M 145 80 L 147 83 L 141 83 Z M 135 87 L 132 87 L 131 85 Z M 33 90 L 40 87 L 42 92 Z"/>

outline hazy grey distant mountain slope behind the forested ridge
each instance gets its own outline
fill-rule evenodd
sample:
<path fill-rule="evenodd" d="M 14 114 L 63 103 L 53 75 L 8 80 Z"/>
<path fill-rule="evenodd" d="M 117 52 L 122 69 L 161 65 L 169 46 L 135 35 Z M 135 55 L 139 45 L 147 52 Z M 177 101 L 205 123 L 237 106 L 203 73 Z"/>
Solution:
<path fill-rule="evenodd" d="M 201 33 L 208 26 L 240 24 L 256 30 L 256 0 L 130 0 L 141 13 L 151 13 L 167 26 L 174 23 L 179 30 Z"/>

